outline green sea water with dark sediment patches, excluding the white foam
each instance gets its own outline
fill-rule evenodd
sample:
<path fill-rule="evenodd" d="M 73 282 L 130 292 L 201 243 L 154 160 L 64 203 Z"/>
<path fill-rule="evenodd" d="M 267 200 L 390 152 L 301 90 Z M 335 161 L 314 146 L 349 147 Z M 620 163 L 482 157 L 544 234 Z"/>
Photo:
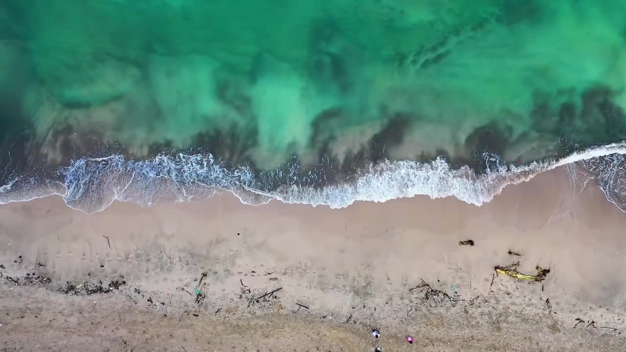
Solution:
<path fill-rule="evenodd" d="M 4 0 L 4 145 L 526 163 L 626 135 L 617 0 Z M 83 149 L 80 149 L 83 148 Z M 4 161 L 4 160 L 3 160 Z"/>

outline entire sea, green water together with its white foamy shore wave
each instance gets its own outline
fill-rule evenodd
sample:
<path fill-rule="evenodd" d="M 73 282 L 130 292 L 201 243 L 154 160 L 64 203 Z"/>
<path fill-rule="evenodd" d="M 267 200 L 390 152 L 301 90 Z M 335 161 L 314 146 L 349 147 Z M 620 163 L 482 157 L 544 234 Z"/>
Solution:
<path fill-rule="evenodd" d="M 480 205 L 570 165 L 626 209 L 625 14 L 617 0 L 4 0 L 0 202 Z"/>

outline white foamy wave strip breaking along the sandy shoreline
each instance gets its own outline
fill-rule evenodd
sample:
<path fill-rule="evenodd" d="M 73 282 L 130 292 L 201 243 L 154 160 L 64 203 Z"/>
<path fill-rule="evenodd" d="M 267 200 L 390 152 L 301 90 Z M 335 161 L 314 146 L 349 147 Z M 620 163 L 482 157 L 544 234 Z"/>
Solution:
<path fill-rule="evenodd" d="M 598 181 L 607 199 L 626 211 L 625 154 L 626 143 L 614 143 L 523 166 L 506 165 L 497 157 L 486 155 L 492 167 L 480 175 L 469 167 L 453 169 L 443 158 L 428 163 L 389 160 L 372 165 L 342 184 L 328 184 L 329 175 L 322 171 L 312 170 L 302 177 L 295 164 L 255 175 L 248 167 L 227 168 L 211 155 L 179 153 L 145 161 L 111 155 L 73 160 L 58 171 L 58 180 L 15 179 L 0 187 L 0 204 L 59 194 L 69 207 L 91 214 L 106 209 L 115 200 L 150 206 L 205 199 L 228 190 L 243 203 L 252 205 L 277 199 L 337 209 L 357 200 L 386 202 L 428 195 L 432 199 L 456 197 L 480 206 L 490 202 L 506 185 L 528 181 L 560 166 L 572 170 L 572 165 L 582 165 L 585 175 Z"/>

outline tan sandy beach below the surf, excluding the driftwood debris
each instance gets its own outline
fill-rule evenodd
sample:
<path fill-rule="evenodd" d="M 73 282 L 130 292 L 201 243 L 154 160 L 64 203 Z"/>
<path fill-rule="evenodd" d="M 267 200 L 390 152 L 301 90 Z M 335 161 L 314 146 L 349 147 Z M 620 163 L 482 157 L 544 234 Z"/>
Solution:
<path fill-rule="evenodd" d="M 426 197 L 253 207 L 230 194 L 93 215 L 60 197 L 0 205 L 0 349 L 624 350 L 624 228 L 626 214 L 597 187 L 577 194 L 563 169 L 483 207 Z M 551 272 L 493 278 L 514 261 Z M 28 284 L 27 272 L 52 282 Z M 409 292 L 421 279 L 451 299 Z M 126 284 L 86 295 L 84 282 L 100 280 Z M 59 292 L 66 282 L 83 286 Z"/>

